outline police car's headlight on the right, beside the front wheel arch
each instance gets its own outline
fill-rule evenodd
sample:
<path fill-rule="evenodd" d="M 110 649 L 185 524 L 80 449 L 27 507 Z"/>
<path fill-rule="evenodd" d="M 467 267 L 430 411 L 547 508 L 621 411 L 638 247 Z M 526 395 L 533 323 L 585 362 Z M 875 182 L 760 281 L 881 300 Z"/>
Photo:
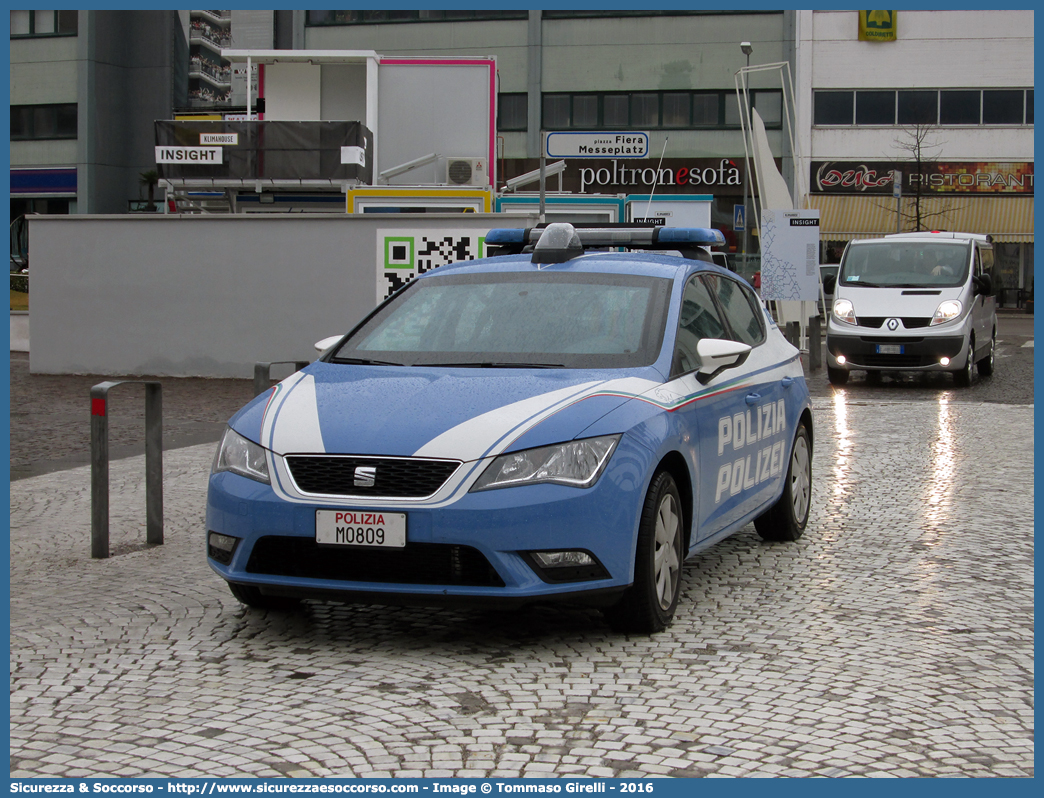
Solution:
<path fill-rule="evenodd" d="M 606 436 L 501 454 L 482 472 L 472 491 L 540 483 L 590 488 L 598 482 L 619 441 L 618 435 Z"/>

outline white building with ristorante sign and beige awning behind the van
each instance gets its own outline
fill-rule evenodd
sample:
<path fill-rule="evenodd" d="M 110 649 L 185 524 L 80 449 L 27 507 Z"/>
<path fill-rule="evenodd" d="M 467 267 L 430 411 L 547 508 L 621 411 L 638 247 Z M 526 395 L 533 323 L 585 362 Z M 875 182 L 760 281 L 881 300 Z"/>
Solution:
<path fill-rule="evenodd" d="M 870 20 L 880 38 L 860 38 L 867 14 L 888 15 Z M 1031 298 L 1033 10 L 798 11 L 796 24 L 800 149 L 830 257 L 897 231 L 990 234 L 999 299 Z"/>

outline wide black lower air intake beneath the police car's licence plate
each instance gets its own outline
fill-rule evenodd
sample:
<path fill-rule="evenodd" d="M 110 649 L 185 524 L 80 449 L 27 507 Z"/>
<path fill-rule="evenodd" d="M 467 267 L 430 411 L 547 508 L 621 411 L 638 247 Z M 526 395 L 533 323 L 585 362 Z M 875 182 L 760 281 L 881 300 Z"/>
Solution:
<path fill-rule="evenodd" d="M 481 551 L 446 543 L 407 543 L 404 548 L 319 546 L 311 538 L 259 538 L 246 563 L 250 573 L 387 582 L 407 585 L 503 587 Z"/>

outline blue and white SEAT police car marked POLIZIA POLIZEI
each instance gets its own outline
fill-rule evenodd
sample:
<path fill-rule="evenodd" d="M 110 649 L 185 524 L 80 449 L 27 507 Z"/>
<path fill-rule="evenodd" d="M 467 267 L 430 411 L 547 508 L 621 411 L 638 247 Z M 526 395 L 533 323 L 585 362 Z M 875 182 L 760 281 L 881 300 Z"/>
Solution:
<path fill-rule="evenodd" d="M 508 254 L 418 277 L 229 422 L 207 553 L 240 602 L 567 601 L 651 633 L 686 558 L 804 532 L 800 353 L 719 231 L 485 241 Z"/>

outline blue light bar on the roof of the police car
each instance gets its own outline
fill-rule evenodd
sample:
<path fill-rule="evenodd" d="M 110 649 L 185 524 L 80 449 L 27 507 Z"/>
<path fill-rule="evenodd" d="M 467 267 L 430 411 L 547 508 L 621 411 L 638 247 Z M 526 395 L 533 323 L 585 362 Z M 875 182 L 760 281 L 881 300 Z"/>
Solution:
<path fill-rule="evenodd" d="M 570 225 L 552 222 L 527 229 L 496 228 L 485 235 L 485 243 L 511 253 L 526 247 L 542 252 L 542 258 L 561 251 L 564 260 L 575 257 L 579 248 L 624 247 L 630 250 L 683 250 L 691 247 L 722 247 L 725 235 L 710 228 L 665 228 L 647 225 Z M 552 256 L 553 257 L 553 256 Z M 541 260 L 535 262 L 561 262 Z"/>

